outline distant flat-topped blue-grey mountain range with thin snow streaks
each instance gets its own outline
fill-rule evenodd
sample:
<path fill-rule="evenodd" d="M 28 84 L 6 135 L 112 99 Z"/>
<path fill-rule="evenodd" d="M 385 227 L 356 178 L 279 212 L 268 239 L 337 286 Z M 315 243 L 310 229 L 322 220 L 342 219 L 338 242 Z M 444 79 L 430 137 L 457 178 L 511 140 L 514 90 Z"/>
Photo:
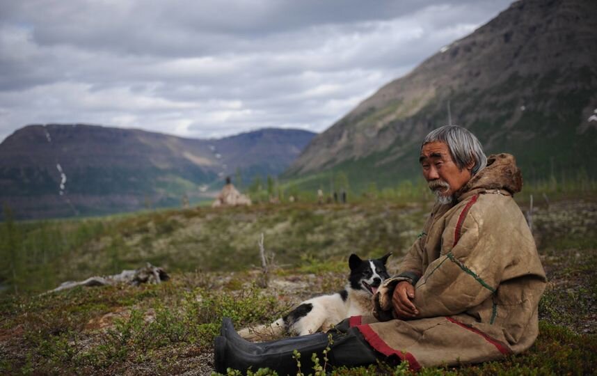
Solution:
<path fill-rule="evenodd" d="M 0 143 L 0 203 L 20 219 L 180 205 L 225 176 L 277 175 L 315 134 L 264 129 L 184 139 L 97 125 L 29 125 Z"/>

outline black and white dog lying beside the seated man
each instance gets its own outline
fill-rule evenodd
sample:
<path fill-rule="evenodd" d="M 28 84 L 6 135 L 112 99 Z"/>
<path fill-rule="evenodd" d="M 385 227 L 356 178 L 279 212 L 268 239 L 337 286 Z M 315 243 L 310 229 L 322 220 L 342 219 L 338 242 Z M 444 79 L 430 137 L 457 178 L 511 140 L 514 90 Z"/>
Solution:
<path fill-rule="evenodd" d="M 304 336 L 328 331 L 351 316 L 372 315 L 372 297 L 381 283 L 390 278 L 385 263 L 391 254 L 370 260 L 351 254 L 350 276 L 344 290 L 305 300 L 283 318 L 271 324 L 242 329 L 239 334 L 248 340 L 263 340 L 285 332 Z"/>

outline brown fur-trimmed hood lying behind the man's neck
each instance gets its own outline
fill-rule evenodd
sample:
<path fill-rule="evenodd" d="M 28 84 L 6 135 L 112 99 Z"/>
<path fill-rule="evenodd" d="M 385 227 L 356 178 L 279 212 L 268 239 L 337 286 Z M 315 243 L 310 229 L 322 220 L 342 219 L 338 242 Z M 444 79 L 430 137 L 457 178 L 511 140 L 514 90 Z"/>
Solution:
<path fill-rule="evenodd" d="M 523 174 L 516 166 L 516 159 L 513 155 L 501 153 L 490 155 L 487 158 L 487 165 L 473 176 L 455 196 L 459 201 L 470 196 L 468 192 L 478 189 L 500 189 L 514 195 L 523 189 Z"/>

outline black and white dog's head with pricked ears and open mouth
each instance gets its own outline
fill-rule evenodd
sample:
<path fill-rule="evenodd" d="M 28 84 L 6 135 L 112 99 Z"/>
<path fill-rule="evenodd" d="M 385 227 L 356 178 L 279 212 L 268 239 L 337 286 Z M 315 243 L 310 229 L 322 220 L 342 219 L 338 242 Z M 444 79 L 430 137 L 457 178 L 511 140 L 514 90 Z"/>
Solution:
<path fill-rule="evenodd" d="M 385 262 L 388 261 L 391 254 L 392 252 L 386 253 L 381 258 L 369 260 L 362 260 L 356 254 L 351 254 L 349 258 L 351 288 L 374 295 L 383 280 L 390 278 L 388 271 L 385 269 Z"/>

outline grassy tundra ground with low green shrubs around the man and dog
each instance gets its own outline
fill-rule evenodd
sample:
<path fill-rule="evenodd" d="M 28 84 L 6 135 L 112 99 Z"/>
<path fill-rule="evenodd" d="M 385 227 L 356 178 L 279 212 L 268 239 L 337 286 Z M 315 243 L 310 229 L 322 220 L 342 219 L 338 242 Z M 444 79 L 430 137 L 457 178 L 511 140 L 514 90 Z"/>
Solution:
<path fill-rule="evenodd" d="M 595 372 L 597 197 L 551 195 L 548 202 L 534 196 L 533 230 L 550 279 L 535 345 L 505 361 L 430 368 L 424 375 Z M 223 316 L 237 327 L 266 322 L 308 295 L 338 290 L 353 252 L 365 257 L 394 251 L 392 270 L 420 233 L 431 205 L 424 196 L 408 201 L 299 201 L 5 221 L 0 224 L 0 373 L 209 375 L 212 341 Z M 520 201 L 523 210 L 529 204 Z M 261 233 L 273 256 L 266 289 L 256 283 Z M 62 281 L 116 274 L 145 262 L 164 267 L 170 281 L 39 295 Z M 334 371 L 379 372 L 409 373 L 384 365 Z"/>

